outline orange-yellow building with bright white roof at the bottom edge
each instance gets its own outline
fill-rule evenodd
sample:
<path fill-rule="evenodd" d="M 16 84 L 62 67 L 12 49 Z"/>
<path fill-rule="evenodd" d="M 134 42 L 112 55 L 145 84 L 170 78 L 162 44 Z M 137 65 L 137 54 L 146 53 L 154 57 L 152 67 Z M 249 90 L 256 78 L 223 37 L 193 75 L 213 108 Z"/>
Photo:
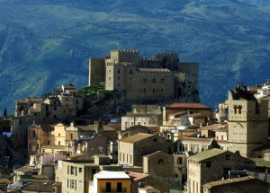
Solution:
<path fill-rule="evenodd" d="M 100 171 L 94 174 L 93 189 L 90 192 L 131 192 L 131 179 L 124 171 Z"/>

